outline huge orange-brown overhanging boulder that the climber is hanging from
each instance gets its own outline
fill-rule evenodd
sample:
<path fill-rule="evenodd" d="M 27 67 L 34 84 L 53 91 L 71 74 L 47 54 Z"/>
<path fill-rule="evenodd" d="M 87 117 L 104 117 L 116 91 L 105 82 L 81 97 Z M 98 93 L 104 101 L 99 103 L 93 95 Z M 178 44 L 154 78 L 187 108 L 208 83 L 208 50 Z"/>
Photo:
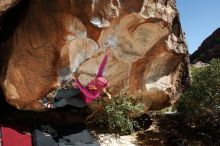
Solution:
<path fill-rule="evenodd" d="M 104 76 L 113 96 L 126 91 L 160 109 L 188 84 L 175 0 L 24 0 L 1 25 L 0 83 L 18 109 L 41 110 L 38 100 L 76 70 L 86 84 L 108 45 Z"/>

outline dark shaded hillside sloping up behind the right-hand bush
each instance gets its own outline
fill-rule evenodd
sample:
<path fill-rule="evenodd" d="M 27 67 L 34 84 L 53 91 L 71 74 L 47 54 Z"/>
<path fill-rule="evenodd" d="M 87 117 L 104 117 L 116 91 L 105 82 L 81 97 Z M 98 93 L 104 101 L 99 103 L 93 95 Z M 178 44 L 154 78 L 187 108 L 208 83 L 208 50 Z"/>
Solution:
<path fill-rule="evenodd" d="M 201 46 L 190 56 L 190 62 L 209 62 L 213 58 L 220 58 L 220 28 L 206 38 Z"/>

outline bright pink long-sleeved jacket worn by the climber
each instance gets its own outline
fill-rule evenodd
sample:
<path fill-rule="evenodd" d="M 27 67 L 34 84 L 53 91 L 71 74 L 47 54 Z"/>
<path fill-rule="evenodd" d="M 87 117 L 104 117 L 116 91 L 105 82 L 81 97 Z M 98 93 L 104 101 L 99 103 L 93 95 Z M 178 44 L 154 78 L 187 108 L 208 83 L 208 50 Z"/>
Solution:
<path fill-rule="evenodd" d="M 108 55 L 105 55 L 105 57 L 102 60 L 102 63 L 99 66 L 99 70 L 98 73 L 96 75 L 97 77 L 102 77 L 105 65 L 107 63 L 108 60 Z M 85 103 L 90 103 L 93 100 L 97 99 L 100 96 L 100 91 L 99 90 L 90 90 L 88 87 L 90 85 L 95 84 L 94 83 L 95 80 L 90 81 L 85 87 L 80 83 L 80 81 L 78 79 L 75 80 L 76 86 L 80 89 L 81 91 L 81 97 L 83 98 Z"/>

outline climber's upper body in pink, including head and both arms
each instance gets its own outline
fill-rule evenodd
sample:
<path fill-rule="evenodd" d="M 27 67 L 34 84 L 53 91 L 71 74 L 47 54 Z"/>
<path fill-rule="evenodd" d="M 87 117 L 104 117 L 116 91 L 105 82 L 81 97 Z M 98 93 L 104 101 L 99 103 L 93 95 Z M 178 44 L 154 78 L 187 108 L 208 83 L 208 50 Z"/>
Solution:
<path fill-rule="evenodd" d="M 105 65 L 108 60 L 108 54 L 109 54 L 110 47 L 107 47 L 105 56 L 102 60 L 101 65 L 99 66 L 98 73 L 92 81 L 90 81 L 87 86 L 82 86 L 80 81 L 78 80 L 79 74 L 74 73 L 73 74 L 73 79 L 75 80 L 76 86 L 79 88 L 81 91 L 81 98 L 83 101 L 88 104 L 92 102 L 93 100 L 97 99 L 100 97 L 101 92 L 104 92 L 107 94 L 109 98 L 111 98 L 111 95 L 106 92 L 106 88 L 108 87 L 109 83 L 108 81 L 103 77 L 103 71 L 105 68 Z"/>

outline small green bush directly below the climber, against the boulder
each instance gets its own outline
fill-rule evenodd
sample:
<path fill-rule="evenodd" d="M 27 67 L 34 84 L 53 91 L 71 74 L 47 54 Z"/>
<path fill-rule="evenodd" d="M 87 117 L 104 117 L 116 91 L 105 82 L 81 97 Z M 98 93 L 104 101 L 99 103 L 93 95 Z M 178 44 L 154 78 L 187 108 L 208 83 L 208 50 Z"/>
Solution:
<path fill-rule="evenodd" d="M 111 102 L 99 100 L 104 106 L 103 114 L 96 117 L 97 124 L 107 125 L 110 131 L 119 134 L 131 134 L 138 128 L 133 118 L 144 113 L 144 104 L 126 94 L 113 97 Z"/>

